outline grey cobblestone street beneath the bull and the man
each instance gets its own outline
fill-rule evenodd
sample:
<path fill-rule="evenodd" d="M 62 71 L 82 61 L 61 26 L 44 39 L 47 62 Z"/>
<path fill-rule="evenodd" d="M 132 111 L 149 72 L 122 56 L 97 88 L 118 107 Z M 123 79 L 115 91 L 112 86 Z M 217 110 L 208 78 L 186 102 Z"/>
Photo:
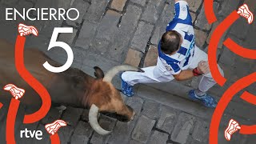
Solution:
<path fill-rule="evenodd" d="M 250 6 L 256 14 L 256 2 L 253 0 L 214 0 L 214 12 L 218 22 L 208 24 L 202 0 L 186 0 L 190 6 L 193 18 L 196 45 L 202 50 L 208 50 L 213 31 L 232 11 L 243 3 Z M 38 37 L 26 38 L 26 47 L 42 50 L 57 62 L 66 62 L 66 52 L 61 48 L 47 50 L 54 27 L 73 27 L 73 34 L 59 34 L 58 41 L 68 43 L 74 52 L 73 67 L 94 75 L 94 66 L 99 66 L 106 72 L 113 66 L 130 64 L 146 67 L 156 65 L 158 58 L 158 41 L 165 32 L 166 25 L 174 17 L 174 0 L 0 0 L 0 38 L 14 43 L 18 34 L 17 21 L 4 21 L 5 8 L 21 7 L 63 7 L 67 10 L 75 7 L 80 17 L 74 22 L 66 21 L 25 21 L 26 25 L 38 28 Z M 36 14 L 31 13 L 31 16 Z M 255 62 L 232 53 L 222 42 L 231 38 L 239 45 L 255 49 L 255 22 L 248 25 L 245 18 L 238 21 L 226 31 L 218 43 L 218 63 L 225 72 L 227 82 L 224 86 L 214 86 L 210 94 L 218 100 L 225 90 L 239 78 L 255 72 Z M 110 135 L 101 136 L 94 132 L 88 122 L 88 110 L 68 106 L 59 110 L 52 106 L 46 118 L 30 125 L 22 124 L 23 116 L 29 112 L 25 106 L 18 111 L 16 122 L 17 143 L 50 143 L 49 134 L 44 125 L 61 118 L 68 126 L 58 131 L 63 144 L 206 144 L 209 143 L 209 127 L 213 109 L 207 109 L 197 102 L 187 98 L 188 91 L 197 88 L 199 78 L 184 82 L 166 82 L 147 85 L 137 85 L 134 97 L 123 98 L 128 106 L 136 111 L 131 122 L 119 122 L 117 119 L 100 114 L 99 124 L 105 130 L 111 130 Z M 120 78 L 114 78 L 114 86 L 120 89 Z M 246 88 L 256 94 L 255 84 Z M 230 142 L 224 137 L 224 130 L 230 118 L 244 125 L 256 122 L 256 107 L 244 102 L 237 94 L 225 110 L 219 128 L 218 142 L 220 144 L 253 144 L 255 135 L 236 133 Z M 2 102 L 0 110 L 1 139 L 5 143 L 6 114 L 9 101 Z M 19 130 L 42 130 L 43 139 L 20 138 Z M 26 141 L 26 142 L 25 142 Z M 28 142 L 29 141 L 29 142 Z"/>

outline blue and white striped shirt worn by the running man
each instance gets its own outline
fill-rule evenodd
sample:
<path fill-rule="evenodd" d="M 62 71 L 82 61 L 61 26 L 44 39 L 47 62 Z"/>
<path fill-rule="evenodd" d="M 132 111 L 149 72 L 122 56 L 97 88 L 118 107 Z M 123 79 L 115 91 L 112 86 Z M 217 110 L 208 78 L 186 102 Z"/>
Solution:
<path fill-rule="evenodd" d="M 182 45 L 178 52 L 173 55 L 164 54 L 158 44 L 158 54 L 162 65 L 170 74 L 179 74 L 181 70 L 186 70 L 194 56 L 194 28 L 192 18 L 189 12 L 189 6 L 186 1 L 175 3 L 174 19 L 166 26 L 166 31 L 176 30 L 182 35 Z"/>

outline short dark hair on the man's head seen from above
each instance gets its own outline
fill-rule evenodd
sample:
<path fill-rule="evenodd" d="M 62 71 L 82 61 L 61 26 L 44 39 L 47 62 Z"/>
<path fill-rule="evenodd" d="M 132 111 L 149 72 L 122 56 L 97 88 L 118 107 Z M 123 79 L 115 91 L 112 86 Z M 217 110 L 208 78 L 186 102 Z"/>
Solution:
<path fill-rule="evenodd" d="M 174 51 L 178 50 L 181 43 L 181 34 L 175 30 L 166 31 L 162 34 L 161 39 L 161 50 L 165 54 L 172 54 Z"/>

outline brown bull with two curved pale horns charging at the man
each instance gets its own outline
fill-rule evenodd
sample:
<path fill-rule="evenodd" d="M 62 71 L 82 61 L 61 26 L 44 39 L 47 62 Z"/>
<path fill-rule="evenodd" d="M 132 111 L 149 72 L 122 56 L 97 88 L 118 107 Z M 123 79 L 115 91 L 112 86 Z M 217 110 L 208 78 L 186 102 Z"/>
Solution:
<path fill-rule="evenodd" d="M 0 86 L 8 83 L 26 90 L 26 95 L 20 100 L 26 106 L 40 107 L 42 100 L 39 95 L 19 76 L 14 65 L 14 46 L 0 40 Z M 62 66 L 36 49 L 25 49 L 24 62 L 26 69 L 48 90 L 52 103 L 60 105 L 90 108 L 89 121 L 98 134 L 109 134 L 98 125 L 98 112 L 110 112 L 122 115 L 128 121 L 134 118 L 134 110 L 126 106 L 120 92 L 111 83 L 114 75 L 124 70 L 142 71 L 133 66 L 115 66 L 104 76 L 102 70 L 94 67 L 96 78 L 82 70 L 69 68 L 62 73 L 51 73 L 42 64 L 49 62 L 51 66 Z M 10 98 L 10 94 L 1 91 L 1 98 Z"/>

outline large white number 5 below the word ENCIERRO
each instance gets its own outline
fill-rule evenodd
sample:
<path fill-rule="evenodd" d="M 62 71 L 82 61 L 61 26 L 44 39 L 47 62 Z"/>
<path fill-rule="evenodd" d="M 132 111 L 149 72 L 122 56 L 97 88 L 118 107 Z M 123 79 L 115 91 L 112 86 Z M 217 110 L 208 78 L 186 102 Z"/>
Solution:
<path fill-rule="evenodd" d="M 50 44 L 48 46 L 48 50 L 50 50 L 55 46 L 62 47 L 62 49 L 66 51 L 67 60 L 66 60 L 66 63 L 60 67 L 50 66 L 50 64 L 47 61 L 42 65 L 46 68 L 46 70 L 49 70 L 50 72 L 53 72 L 53 73 L 60 73 L 67 70 L 68 68 L 70 68 L 74 60 L 74 54 L 70 46 L 65 42 L 56 42 L 58 38 L 58 33 L 73 33 L 73 28 L 72 27 L 55 27 L 54 28 L 53 35 L 50 38 Z"/>

